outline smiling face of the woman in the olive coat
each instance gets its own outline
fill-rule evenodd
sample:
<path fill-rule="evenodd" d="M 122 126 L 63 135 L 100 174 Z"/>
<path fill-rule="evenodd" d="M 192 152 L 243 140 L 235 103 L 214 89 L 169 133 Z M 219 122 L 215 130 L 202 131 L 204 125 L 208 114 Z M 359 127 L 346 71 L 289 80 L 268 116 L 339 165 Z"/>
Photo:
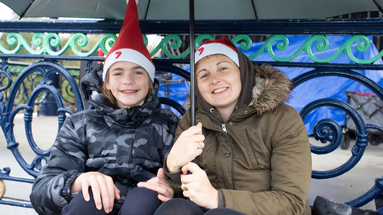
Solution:
<path fill-rule="evenodd" d="M 196 80 L 201 96 L 219 113 L 234 110 L 241 94 L 241 74 L 229 57 L 216 54 L 198 61 Z"/>

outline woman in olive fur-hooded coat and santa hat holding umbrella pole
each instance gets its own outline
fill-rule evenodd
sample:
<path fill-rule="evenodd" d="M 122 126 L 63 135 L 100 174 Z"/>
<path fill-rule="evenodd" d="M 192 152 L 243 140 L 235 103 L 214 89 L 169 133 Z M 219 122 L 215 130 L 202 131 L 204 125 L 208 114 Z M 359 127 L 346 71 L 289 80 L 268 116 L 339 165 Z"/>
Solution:
<path fill-rule="evenodd" d="M 195 53 L 196 126 L 180 120 L 165 160 L 177 197 L 161 214 L 311 214 L 311 153 L 291 81 L 251 61 L 226 37 Z M 199 155 L 199 165 L 191 163 Z M 190 171 L 192 174 L 187 175 Z"/>

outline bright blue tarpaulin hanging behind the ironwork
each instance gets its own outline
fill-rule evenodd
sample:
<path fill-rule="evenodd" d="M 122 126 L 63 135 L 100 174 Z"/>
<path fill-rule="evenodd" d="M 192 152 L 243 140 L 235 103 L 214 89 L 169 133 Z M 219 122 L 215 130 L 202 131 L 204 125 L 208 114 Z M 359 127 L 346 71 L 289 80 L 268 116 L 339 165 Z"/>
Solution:
<path fill-rule="evenodd" d="M 286 36 L 289 41 L 289 46 L 286 50 L 279 51 L 276 47 L 277 42 L 273 44 L 273 52 L 278 57 L 289 57 L 296 50 L 299 49 L 301 44 L 304 43 L 310 36 Z M 316 43 L 312 46 L 312 52 L 314 56 L 319 59 L 326 59 L 333 55 L 340 47 L 350 38 L 350 36 L 327 36 L 329 39 L 329 47 L 326 51 L 318 52 L 315 49 Z M 352 53 L 357 59 L 371 59 L 378 54 L 378 50 L 376 50 L 375 45 L 372 43 L 372 37 L 368 37 L 370 39 L 371 45 L 369 49 L 365 52 L 358 52 L 356 50 L 356 46 L 358 42 L 354 42 L 352 47 Z M 243 50 L 243 52 L 250 56 L 257 52 L 264 42 L 255 42 L 252 44 L 249 50 Z M 237 44 L 239 47 L 239 44 Z M 260 54 L 256 60 L 259 61 L 275 61 L 269 55 L 267 51 L 264 51 Z M 292 62 L 313 62 L 306 52 L 302 52 L 298 57 L 291 60 Z M 340 64 L 354 64 L 345 52 L 342 52 L 336 59 L 332 60 L 330 63 L 340 63 Z M 382 59 L 377 60 L 374 64 L 383 64 Z M 189 65 L 184 67 L 185 70 L 190 70 Z M 301 75 L 305 72 L 313 70 L 313 68 L 287 68 L 287 67 L 278 67 L 278 69 L 282 70 L 286 73 L 286 75 L 292 79 L 298 75 Z M 381 70 L 355 70 L 356 72 L 361 73 L 362 75 L 367 76 L 368 78 L 376 81 L 379 85 L 383 86 L 383 71 Z M 177 76 L 174 76 L 177 77 Z M 180 79 L 180 78 L 179 78 Z M 173 87 L 174 85 L 174 87 Z M 179 87 L 179 88 L 178 88 Z M 173 89 L 172 89 L 173 88 Z M 171 86 L 172 96 L 171 98 L 178 101 L 178 103 L 183 104 L 183 99 L 186 98 L 184 96 L 188 90 L 185 87 L 185 84 L 172 84 Z M 311 101 L 315 101 L 321 98 L 334 98 L 347 102 L 347 96 L 345 95 L 345 91 L 358 91 L 358 92 L 368 92 L 372 93 L 368 88 L 361 85 L 360 83 L 349 80 L 347 78 L 342 77 L 319 77 L 314 78 L 312 80 L 306 81 L 301 85 L 297 86 L 293 92 L 291 93 L 291 99 L 288 102 L 289 105 L 293 106 L 296 111 L 301 111 L 301 109 L 310 103 Z M 161 92 L 160 92 L 161 93 Z M 185 94 L 183 94 L 185 93 Z M 182 95 L 183 94 L 183 95 Z M 304 120 L 304 124 L 306 126 L 306 130 L 309 135 L 313 134 L 312 130 L 314 124 L 318 122 L 320 119 L 333 119 L 337 121 L 340 125 L 344 124 L 344 112 L 331 107 L 322 107 L 315 109 L 312 111 Z"/>

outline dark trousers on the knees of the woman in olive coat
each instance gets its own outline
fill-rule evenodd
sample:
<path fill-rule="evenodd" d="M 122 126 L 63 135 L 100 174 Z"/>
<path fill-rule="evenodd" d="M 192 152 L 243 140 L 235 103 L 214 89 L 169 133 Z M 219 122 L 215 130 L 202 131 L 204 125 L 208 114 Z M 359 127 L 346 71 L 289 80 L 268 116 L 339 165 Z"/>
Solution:
<path fill-rule="evenodd" d="M 198 205 L 186 199 L 171 199 L 155 211 L 154 215 L 245 215 L 229 208 L 215 208 L 205 212 Z"/>

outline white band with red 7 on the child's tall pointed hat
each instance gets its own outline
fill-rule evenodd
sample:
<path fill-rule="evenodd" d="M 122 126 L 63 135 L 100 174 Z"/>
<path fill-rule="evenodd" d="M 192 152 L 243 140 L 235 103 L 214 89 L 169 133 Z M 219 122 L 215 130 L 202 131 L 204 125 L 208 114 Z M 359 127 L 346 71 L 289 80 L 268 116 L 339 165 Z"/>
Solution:
<path fill-rule="evenodd" d="M 134 49 L 117 49 L 114 53 L 111 53 L 104 63 L 104 70 L 102 72 L 102 80 L 105 81 L 106 72 L 112 64 L 119 61 L 132 62 L 143 67 L 146 72 L 149 74 L 149 77 L 154 82 L 155 68 L 152 62 L 147 59 L 141 52 L 138 52 Z"/>

